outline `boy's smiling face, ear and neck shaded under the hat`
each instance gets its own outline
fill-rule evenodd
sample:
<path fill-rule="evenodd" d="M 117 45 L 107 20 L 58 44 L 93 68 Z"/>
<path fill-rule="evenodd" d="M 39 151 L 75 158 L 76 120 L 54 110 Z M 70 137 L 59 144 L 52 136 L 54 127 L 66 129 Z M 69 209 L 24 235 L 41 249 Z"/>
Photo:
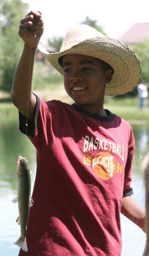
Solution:
<path fill-rule="evenodd" d="M 105 87 L 112 79 L 112 71 L 103 71 L 102 61 L 80 54 L 64 55 L 63 77 L 65 90 L 77 105 L 88 111 L 89 106 L 95 110 L 103 108 Z"/>

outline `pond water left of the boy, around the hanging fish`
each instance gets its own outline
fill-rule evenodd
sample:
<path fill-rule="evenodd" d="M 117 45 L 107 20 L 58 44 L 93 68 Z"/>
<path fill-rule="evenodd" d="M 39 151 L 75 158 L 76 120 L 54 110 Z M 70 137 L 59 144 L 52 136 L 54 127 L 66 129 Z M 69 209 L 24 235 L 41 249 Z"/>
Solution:
<path fill-rule="evenodd" d="M 32 189 L 36 170 L 36 153 L 30 141 L 18 131 L 17 116 L 1 116 L 0 120 L 0 255 L 17 256 L 19 247 L 14 245 L 20 236 L 17 204 L 17 180 L 11 176 L 17 171 L 17 157 L 22 155 L 30 163 Z M 26 145 L 26 150 L 25 150 Z"/>

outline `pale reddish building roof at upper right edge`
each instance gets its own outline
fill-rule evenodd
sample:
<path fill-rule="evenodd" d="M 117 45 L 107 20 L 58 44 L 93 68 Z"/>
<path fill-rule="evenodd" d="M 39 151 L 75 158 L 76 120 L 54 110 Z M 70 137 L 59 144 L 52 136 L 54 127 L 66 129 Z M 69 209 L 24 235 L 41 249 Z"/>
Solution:
<path fill-rule="evenodd" d="M 149 22 L 135 23 L 119 40 L 126 44 L 136 44 L 147 38 L 149 38 Z"/>

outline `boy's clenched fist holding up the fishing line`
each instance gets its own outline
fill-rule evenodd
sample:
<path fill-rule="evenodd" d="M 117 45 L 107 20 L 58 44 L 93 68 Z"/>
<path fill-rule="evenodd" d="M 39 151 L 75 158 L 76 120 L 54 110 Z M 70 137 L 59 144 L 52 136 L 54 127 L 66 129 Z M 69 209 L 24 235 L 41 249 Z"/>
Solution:
<path fill-rule="evenodd" d="M 40 11 L 31 11 L 24 17 L 19 26 L 19 35 L 29 47 L 37 47 L 43 34 L 43 18 Z"/>

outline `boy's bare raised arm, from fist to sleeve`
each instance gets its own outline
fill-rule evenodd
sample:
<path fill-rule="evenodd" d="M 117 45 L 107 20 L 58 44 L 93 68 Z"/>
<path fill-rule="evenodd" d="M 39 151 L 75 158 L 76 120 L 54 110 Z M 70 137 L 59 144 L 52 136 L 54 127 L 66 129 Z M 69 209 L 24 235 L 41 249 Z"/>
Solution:
<path fill-rule="evenodd" d="M 13 104 L 24 116 L 27 116 L 28 113 L 30 120 L 34 118 L 34 108 L 36 105 L 36 97 L 32 94 L 34 56 L 42 34 L 43 19 L 41 12 L 29 12 L 21 20 L 19 27 L 19 35 L 24 41 L 24 49 L 14 73 L 11 99 Z"/>

